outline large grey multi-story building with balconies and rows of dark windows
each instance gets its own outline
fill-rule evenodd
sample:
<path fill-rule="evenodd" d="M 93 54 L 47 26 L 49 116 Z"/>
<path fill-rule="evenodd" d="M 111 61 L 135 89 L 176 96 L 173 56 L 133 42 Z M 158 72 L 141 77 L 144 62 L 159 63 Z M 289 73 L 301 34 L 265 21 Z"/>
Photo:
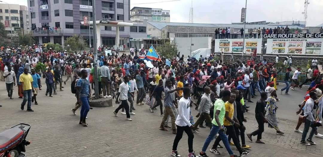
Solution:
<path fill-rule="evenodd" d="M 89 45 L 93 46 L 92 25 L 81 24 L 84 16 L 93 20 L 93 0 L 27 0 L 31 18 L 32 32 L 38 43 L 59 43 L 74 34 L 83 36 Z M 95 0 L 96 20 L 130 22 L 130 0 Z M 116 27 L 99 26 L 101 43 L 104 46 L 115 45 Z M 120 44 L 129 43 L 130 27 L 120 27 Z M 89 36 L 89 33 L 91 36 Z"/>

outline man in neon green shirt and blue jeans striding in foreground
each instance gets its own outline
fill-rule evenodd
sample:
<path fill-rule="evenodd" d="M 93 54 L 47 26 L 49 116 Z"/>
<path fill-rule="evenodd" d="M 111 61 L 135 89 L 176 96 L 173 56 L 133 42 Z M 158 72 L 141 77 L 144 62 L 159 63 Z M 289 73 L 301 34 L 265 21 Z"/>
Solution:
<path fill-rule="evenodd" d="M 207 157 L 205 153 L 206 149 L 209 146 L 210 142 L 214 139 L 215 135 L 219 133 L 219 136 L 221 137 L 226 150 L 229 152 L 230 157 L 236 157 L 236 155 L 234 155 L 233 151 L 231 150 L 231 147 L 228 142 L 228 137 L 224 133 L 224 126 L 223 126 L 223 119 L 225 115 L 224 102 L 230 99 L 230 95 L 231 95 L 230 91 L 224 90 L 223 97 L 221 99 L 217 99 L 214 102 L 214 118 L 212 120 L 212 129 L 210 131 L 209 136 L 206 138 L 204 142 L 203 148 L 199 156 Z"/>

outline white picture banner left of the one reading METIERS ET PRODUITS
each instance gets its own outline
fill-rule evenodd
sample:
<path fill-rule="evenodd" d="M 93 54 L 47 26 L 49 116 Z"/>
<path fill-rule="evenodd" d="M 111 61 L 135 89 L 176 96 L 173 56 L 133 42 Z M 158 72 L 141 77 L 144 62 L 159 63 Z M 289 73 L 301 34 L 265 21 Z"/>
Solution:
<path fill-rule="evenodd" d="M 261 54 L 262 39 L 245 39 L 244 54 L 257 52 Z M 214 52 L 241 53 L 243 51 L 243 39 L 215 39 Z"/>

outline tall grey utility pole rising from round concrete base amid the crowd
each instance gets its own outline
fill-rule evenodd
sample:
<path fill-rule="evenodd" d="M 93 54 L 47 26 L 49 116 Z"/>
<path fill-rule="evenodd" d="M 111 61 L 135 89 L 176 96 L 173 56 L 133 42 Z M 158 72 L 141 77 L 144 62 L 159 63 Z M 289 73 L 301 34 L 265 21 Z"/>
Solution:
<path fill-rule="evenodd" d="M 90 7 L 90 6 L 89 6 Z M 96 14 L 95 14 L 95 0 L 92 1 L 92 15 L 93 15 L 93 52 L 94 52 L 94 93 L 95 93 L 95 99 L 99 99 L 99 76 L 98 76 L 98 47 L 97 47 L 97 25 L 96 25 Z M 90 25 L 89 25 L 90 26 Z M 100 29 L 100 27 L 99 27 Z M 100 40 L 100 39 L 99 39 Z M 91 43 L 91 41 L 90 41 Z"/>

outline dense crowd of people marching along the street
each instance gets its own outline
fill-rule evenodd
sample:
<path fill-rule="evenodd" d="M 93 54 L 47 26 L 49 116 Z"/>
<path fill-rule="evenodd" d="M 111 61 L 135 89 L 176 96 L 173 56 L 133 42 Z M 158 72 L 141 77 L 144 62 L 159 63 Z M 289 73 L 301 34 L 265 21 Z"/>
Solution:
<path fill-rule="evenodd" d="M 285 28 L 286 30 L 286 28 Z M 140 50 L 139 54 L 131 55 L 125 53 L 119 54 L 112 49 L 112 54 L 106 55 L 101 48 L 98 50 L 98 62 L 94 65 L 93 52 L 56 52 L 51 48 L 47 52 L 35 52 L 35 46 L 28 49 L 17 47 L 3 48 L 1 52 L 1 80 L 5 80 L 8 97 L 13 99 L 13 87 L 18 85 L 18 96 L 23 98 L 21 110 L 27 103 L 27 111 L 31 109 L 31 103 L 37 105 L 37 93 L 42 88 L 41 76 L 46 79 L 46 96 L 53 97 L 57 94 L 57 84 L 59 91 L 63 91 L 63 84 L 71 81 L 71 92 L 76 96 L 75 107 L 72 110 L 76 115 L 76 110 L 81 107 L 80 121 L 84 127 L 88 126 L 86 122 L 87 114 L 91 107 L 92 89 L 95 86 L 99 88 L 99 98 L 111 98 L 116 104 L 120 104 L 113 111 L 118 117 L 118 112 L 126 115 L 126 120 L 132 121 L 130 115 L 135 115 L 134 101 L 136 94 L 136 105 L 147 104 L 147 110 L 154 112 L 159 106 L 161 125 L 159 129 L 176 134 L 172 146 L 171 155 L 180 157 L 177 152 L 177 145 L 182 139 L 183 132 L 188 135 L 188 157 L 207 157 L 206 151 L 210 142 L 215 138 L 215 142 L 210 149 L 214 154 L 220 154 L 217 148 L 222 148 L 219 142 L 222 140 L 224 147 L 234 157 L 234 152 L 230 145 L 234 145 L 239 151 L 240 156 L 250 154 L 251 146 L 245 144 L 245 125 L 247 120 L 244 113 L 248 112 L 248 102 L 253 103 L 256 100 L 255 118 L 258 123 L 258 129 L 252 133 L 246 133 L 247 138 L 252 141 L 252 136 L 257 136 L 256 143 L 261 141 L 264 124 L 268 123 L 269 128 L 274 128 L 276 134 L 284 135 L 278 127 L 276 111 L 279 101 L 276 91 L 286 90 L 288 94 L 289 81 L 293 79 L 295 85 L 291 90 L 296 90 L 301 84 L 297 83 L 301 68 L 297 68 L 293 77 L 290 78 L 291 67 L 286 68 L 285 83 L 286 88 L 277 89 L 276 77 L 281 70 L 276 69 L 274 63 L 267 62 L 260 58 L 257 64 L 246 64 L 244 60 L 224 62 L 214 60 L 211 54 L 207 58 L 191 58 L 184 56 L 171 58 L 171 63 L 167 64 L 166 58 L 161 57 L 151 61 L 151 66 L 144 60 L 145 51 Z M 277 56 L 278 58 L 278 56 Z M 36 71 L 36 66 L 43 63 L 46 69 Z M 316 61 L 317 63 L 317 61 Z M 98 84 L 95 84 L 95 66 L 98 69 Z M 13 70 L 12 70 L 13 67 Z M 315 68 L 314 72 L 312 68 Z M 305 74 L 305 73 L 304 73 Z M 311 82 L 307 90 L 304 101 L 300 104 L 300 110 L 297 112 L 300 118 L 295 129 L 302 133 L 300 143 L 305 145 L 315 144 L 312 137 L 323 137 L 316 130 L 320 124 L 315 120 L 313 108 L 317 106 L 317 98 L 320 97 L 322 85 L 322 75 L 315 65 L 306 72 L 308 82 Z M 63 76 L 66 75 L 66 79 Z M 54 92 L 53 92 L 54 90 Z M 69 89 L 68 89 L 69 90 Z M 135 93 L 135 91 L 137 91 Z M 258 93 L 257 93 L 258 92 Z M 129 105 L 129 103 L 130 105 Z M 193 105 L 198 114 L 194 120 L 192 115 Z M 164 108 L 164 109 L 163 109 Z M 266 115 L 267 113 L 267 115 Z M 193 133 L 199 133 L 199 128 L 211 129 L 206 138 L 201 151 L 195 154 L 193 151 Z M 304 124 L 304 130 L 298 128 Z M 168 123 L 171 122 L 171 126 Z M 309 137 L 306 139 L 309 127 L 312 127 Z M 239 137 L 240 136 L 240 137 Z M 233 142 L 230 140 L 232 139 Z M 241 139 L 241 143 L 240 143 Z"/>

